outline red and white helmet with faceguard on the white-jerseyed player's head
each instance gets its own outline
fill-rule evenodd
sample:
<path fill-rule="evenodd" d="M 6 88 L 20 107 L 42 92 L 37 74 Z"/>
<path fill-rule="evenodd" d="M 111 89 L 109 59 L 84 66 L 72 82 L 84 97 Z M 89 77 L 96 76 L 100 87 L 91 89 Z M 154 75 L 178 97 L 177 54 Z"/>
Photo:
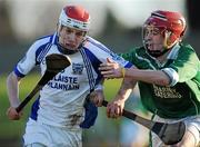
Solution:
<path fill-rule="evenodd" d="M 63 52 L 71 55 L 78 51 L 86 39 L 86 35 L 89 30 L 89 24 L 90 14 L 82 7 L 67 6 L 62 9 L 58 21 L 57 35 L 59 37 L 58 42 Z M 70 41 L 69 38 L 66 37 L 67 33 L 63 29 L 67 29 L 67 31 L 70 29 L 76 29 L 74 31 L 78 31 L 78 33 L 80 31 L 81 40 L 78 39 L 78 42 L 76 42 L 76 48 L 71 46 L 72 41 Z"/>

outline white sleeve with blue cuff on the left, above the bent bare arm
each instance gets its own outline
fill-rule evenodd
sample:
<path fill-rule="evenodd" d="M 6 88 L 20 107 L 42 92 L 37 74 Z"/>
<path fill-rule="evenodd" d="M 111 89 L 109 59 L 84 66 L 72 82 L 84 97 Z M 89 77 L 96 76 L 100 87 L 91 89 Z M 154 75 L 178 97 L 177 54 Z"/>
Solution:
<path fill-rule="evenodd" d="M 36 49 L 37 43 L 33 43 L 14 67 L 14 74 L 18 77 L 24 77 L 36 66 Z"/>

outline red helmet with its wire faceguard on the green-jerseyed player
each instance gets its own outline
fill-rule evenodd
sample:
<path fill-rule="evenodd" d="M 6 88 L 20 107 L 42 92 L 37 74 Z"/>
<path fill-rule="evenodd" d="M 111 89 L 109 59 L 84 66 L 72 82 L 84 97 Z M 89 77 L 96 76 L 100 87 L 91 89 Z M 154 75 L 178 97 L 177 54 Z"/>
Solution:
<path fill-rule="evenodd" d="M 143 45 L 148 49 L 146 36 L 160 33 L 163 37 L 163 48 L 171 49 L 177 42 L 181 41 L 184 30 L 186 20 L 179 12 L 154 11 L 143 24 Z M 164 53 L 166 51 L 163 51 Z M 163 55 L 161 53 L 161 55 Z"/>

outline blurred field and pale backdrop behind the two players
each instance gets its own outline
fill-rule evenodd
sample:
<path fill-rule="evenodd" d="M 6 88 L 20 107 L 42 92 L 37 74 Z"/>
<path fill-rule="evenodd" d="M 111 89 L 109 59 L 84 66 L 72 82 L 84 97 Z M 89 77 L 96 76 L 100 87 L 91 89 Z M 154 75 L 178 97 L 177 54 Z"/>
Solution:
<path fill-rule="evenodd" d="M 36 39 L 54 32 L 60 11 L 66 4 L 80 4 L 88 9 L 91 14 L 89 36 L 103 42 L 114 52 L 126 52 L 131 47 L 142 45 L 141 27 L 151 11 L 158 9 L 179 11 L 188 21 L 184 41 L 196 49 L 198 56 L 200 55 L 198 47 L 200 45 L 199 0 L 0 0 L 1 147 L 21 146 L 21 136 L 31 105 L 26 108 L 20 121 L 8 120 L 6 77 Z M 22 80 L 21 98 L 24 98 L 34 87 L 38 79 L 36 70 Z M 116 95 L 120 82 L 120 80 L 106 82 L 108 100 Z M 138 89 L 134 89 L 126 108 L 147 118 L 150 116 L 140 105 Z M 146 128 L 126 118 L 107 119 L 104 108 L 99 108 L 96 125 L 83 133 L 86 147 L 144 147 L 147 145 L 148 130 Z"/>

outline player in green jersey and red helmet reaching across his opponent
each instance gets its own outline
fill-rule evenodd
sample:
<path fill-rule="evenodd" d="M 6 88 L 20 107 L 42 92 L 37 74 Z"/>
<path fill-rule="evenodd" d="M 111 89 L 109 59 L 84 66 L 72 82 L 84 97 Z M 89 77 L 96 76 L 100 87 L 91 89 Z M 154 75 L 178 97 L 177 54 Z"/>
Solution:
<path fill-rule="evenodd" d="M 186 122 L 186 134 L 176 146 L 196 147 L 200 141 L 200 61 L 193 48 L 182 42 L 186 20 L 179 12 L 153 11 L 142 28 L 143 46 L 121 53 L 134 67 L 124 69 L 108 59 L 99 69 L 106 78 L 124 78 L 107 107 L 108 117 L 122 115 L 138 82 L 141 101 L 153 120 Z M 151 146 L 164 146 L 153 133 Z"/>

